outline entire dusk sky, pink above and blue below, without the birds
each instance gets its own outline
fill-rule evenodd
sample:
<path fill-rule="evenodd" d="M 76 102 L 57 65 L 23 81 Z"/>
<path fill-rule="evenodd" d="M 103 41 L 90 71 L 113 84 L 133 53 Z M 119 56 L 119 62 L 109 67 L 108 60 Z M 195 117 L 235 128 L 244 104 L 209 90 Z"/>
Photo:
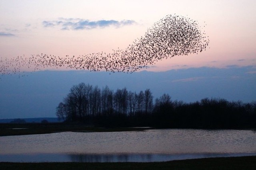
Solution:
<path fill-rule="evenodd" d="M 80 80 L 72 82 L 74 75 L 68 74 L 64 68 L 46 68 L 45 70 L 52 72 L 42 70 L 28 74 L 28 77 L 23 79 L 4 75 L 0 80 L 0 119 L 43 115 L 54 117 L 56 106 L 46 109 L 49 106 L 46 102 L 49 96 L 45 95 L 44 101 L 41 101 L 44 104 L 39 104 L 33 95 L 40 96 L 42 91 L 50 94 L 56 92 L 54 97 L 50 97 L 50 101 L 57 105 L 68 93 L 68 89 L 79 81 L 93 85 L 98 82 L 96 85 L 99 87 L 108 85 L 113 90 L 126 87 L 128 90 L 139 91 L 151 87 L 155 90 L 153 94 L 156 97 L 170 93 L 174 100 L 186 102 L 204 97 L 245 102 L 256 100 L 256 85 L 253 83 L 256 80 L 255 9 L 254 0 L 1 0 L 0 59 L 23 55 L 31 57 L 41 53 L 60 57 L 79 56 L 101 51 L 111 53 L 112 49 L 118 48 L 126 49 L 135 39 L 144 36 L 155 22 L 168 14 L 198 21 L 209 36 L 210 43 L 209 48 L 202 53 L 159 61 L 147 69 L 140 70 L 142 72 L 131 74 L 130 79 L 124 79 L 127 76 L 124 73 L 108 76 L 106 72 L 85 72 L 90 79 L 80 77 Z M 158 77 L 165 75 L 166 81 L 162 82 L 161 88 L 145 83 L 127 82 L 135 81 L 133 76 L 139 76 L 142 82 L 147 82 L 144 77 L 145 70 L 148 75 L 152 74 L 149 79 L 152 82 L 157 82 Z M 80 75 L 80 72 L 78 73 Z M 60 77 L 56 78 L 54 75 Z M 97 80 L 94 77 L 97 77 Z M 175 90 L 172 89 L 176 87 L 173 84 L 174 77 L 176 83 L 184 83 Z M 230 78 L 239 83 L 234 83 Z M 111 85 L 113 81 L 120 86 Z M 170 81 L 171 85 L 167 83 Z M 32 88 L 31 84 L 35 86 Z M 64 84 L 66 88 L 61 88 Z M 31 95 L 28 95 L 28 87 L 34 90 Z M 233 90 L 227 90 L 228 87 Z M 216 92 L 215 89 L 220 91 Z M 246 92 L 243 94 L 241 89 Z M 188 93 L 191 96 L 184 96 L 186 90 L 191 92 Z M 19 102 L 20 98 L 26 100 Z M 16 104 L 16 108 L 7 107 L 11 105 L 11 101 Z M 35 101 L 37 103 L 34 103 Z M 32 107 L 33 111 L 29 111 Z"/>

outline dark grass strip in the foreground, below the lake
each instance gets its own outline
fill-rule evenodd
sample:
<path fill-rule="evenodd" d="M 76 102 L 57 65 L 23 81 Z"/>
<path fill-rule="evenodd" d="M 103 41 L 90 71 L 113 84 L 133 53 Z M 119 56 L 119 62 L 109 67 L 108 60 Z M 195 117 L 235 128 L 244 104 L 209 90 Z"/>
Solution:
<path fill-rule="evenodd" d="M 256 170 L 256 156 L 202 158 L 168 162 L 117 163 L 12 163 L 0 162 L 0 170 Z"/>

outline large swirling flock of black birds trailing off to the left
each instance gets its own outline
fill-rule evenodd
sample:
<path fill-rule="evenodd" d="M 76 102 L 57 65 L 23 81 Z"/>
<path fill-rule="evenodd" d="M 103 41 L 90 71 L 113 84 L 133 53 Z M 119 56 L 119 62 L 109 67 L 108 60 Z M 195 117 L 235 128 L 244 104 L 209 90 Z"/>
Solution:
<path fill-rule="evenodd" d="M 24 76 L 24 68 L 37 71 L 49 67 L 132 73 L 162 59 L 200 53 L 206 50 L 208 44 L 209 39 L 197 21 L 175 14 L 167 15 L 154 23 L 144 37 L 136 39 L 126 49 L 118 48 L 112 53 L 91 53 L 79 57 L 41 54 L 11 59 L 0 58 L 0 74 Z"/>

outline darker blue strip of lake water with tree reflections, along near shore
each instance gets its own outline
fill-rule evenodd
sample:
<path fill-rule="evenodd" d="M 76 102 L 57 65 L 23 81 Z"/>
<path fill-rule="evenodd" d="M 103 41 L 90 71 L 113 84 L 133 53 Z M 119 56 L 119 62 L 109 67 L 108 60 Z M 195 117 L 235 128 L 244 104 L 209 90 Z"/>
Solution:
<path fill-rule="evenodd" d="M 256 153 L 232 154 L 0 154 L 0 162 L 163 162 L 195 158 L 256 156 Z"/>

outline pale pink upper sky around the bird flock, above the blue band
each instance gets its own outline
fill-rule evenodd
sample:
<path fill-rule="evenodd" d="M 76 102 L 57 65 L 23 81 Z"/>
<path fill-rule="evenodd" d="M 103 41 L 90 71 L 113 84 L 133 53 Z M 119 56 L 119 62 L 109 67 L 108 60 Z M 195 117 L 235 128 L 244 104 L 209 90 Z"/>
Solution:
<path fill-rule="evenodd" d="M 210 39 L 210 49 L 158 62 L 152 71 L 200 66 L 256 65 L 256 2 L 254 0 L 2 0 L 0 57 L 47 54 L 64 57 L 125 49 L 148 27 L 168 14 L 197 20 Z M 62 18 L 89 21 L 132 20 L 131 25 L 61 30 L 44 21 Z M 205 22 L 205 23 L 204 23 Z"/>

